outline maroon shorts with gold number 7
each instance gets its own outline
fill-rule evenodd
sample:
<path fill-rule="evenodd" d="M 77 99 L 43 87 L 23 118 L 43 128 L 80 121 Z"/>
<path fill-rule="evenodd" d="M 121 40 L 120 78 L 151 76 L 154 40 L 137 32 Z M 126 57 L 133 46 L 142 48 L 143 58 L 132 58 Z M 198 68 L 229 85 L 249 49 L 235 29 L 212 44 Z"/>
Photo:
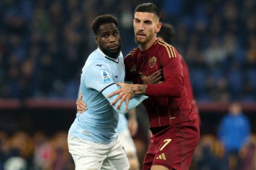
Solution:
<path fill-rule="evenodd" d="M 143 170 L 152 165 L 188 170 L 200 138 L 198 119 L 172 124 L 151 137 Z"/>

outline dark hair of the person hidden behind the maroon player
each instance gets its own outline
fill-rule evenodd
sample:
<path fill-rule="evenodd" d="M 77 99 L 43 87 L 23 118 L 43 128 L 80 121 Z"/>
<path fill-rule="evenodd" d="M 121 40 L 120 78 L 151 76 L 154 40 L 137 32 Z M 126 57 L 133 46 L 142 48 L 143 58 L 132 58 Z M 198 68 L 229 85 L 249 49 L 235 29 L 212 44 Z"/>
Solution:
<path fill-rule="evenodd" d="M 174 27 L 171 24 L 162 23 L 162 27 L 160 29 L 160 32 L 158 32 L 156 34 L 156 36 L 162 37 L 164 42 L 167 42 L 168 44 L 170 44 L 172 42 L 172 39 L 175 36 Z"/>

